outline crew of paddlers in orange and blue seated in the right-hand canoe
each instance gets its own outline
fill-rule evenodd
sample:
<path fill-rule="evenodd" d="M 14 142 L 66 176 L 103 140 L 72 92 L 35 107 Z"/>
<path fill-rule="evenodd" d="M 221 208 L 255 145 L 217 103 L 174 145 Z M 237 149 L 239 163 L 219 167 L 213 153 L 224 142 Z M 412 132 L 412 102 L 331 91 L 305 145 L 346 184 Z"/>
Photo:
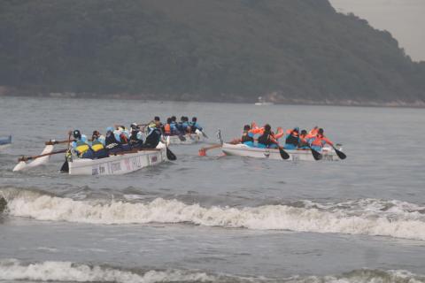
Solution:
<path fill-rule="evenodd" d="M 243 134 L 241 139 L 234 143 L 243 143 L 249 147 L 260 149 L 278 149 L 280 148 L 279 139 L 284 136 L 285 144 L 283 149 L 314 149 L 321 151 L 325 144 L 333 146 L 333 142 L 323 134 L 324 131 L 318 126 L 307 133 L 306 130 L 300 131 L 298 127 L 289 129 L 286 133 L 282 127 L 278 127 L 276 133 L 272 131 L 269 124 L 259 127 L 255 123 L 243 126 Z"/>

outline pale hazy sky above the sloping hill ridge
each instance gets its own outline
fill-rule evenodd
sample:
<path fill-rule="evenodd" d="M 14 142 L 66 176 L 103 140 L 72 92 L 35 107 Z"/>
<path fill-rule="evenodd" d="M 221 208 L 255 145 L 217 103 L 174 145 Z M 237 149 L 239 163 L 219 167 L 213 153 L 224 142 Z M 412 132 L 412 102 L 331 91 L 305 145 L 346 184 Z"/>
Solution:
<path fill-rule="evenodd" d="M 425 0 L 329 0 L 336 11 L 353 12 L 388 30 L 414 61 L 425 61 Z"/>

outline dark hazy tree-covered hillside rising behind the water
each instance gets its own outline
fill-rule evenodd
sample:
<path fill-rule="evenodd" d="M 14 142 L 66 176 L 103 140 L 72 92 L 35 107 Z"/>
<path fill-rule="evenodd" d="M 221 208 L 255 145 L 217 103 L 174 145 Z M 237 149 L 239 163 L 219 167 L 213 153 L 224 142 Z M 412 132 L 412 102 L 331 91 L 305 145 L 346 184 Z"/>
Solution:
<path fill-rule="evenodd" d="M 18 94 L 425 101 L 425 63 L 328 0 L 3 0 L 0 34 Z"/>

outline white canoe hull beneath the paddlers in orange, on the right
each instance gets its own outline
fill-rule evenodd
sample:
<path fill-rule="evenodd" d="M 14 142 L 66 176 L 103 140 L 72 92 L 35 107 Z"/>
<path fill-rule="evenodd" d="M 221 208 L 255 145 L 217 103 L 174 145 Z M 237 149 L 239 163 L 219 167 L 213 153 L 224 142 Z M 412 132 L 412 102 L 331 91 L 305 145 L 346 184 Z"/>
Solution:
<path fill-rule="evenodd" d="M 279 153 L 279 149 L 259 149 L 251 148 L 244 144 L 223 143 L 221 150 L 229 156 L 282 160 L 281 154 Z M 288 160 L 315 161 L 312 155 L 312 151 L 310 149 L 285 149 L 285 151 L 290 155 L 290 158 Z M 335 150 L 332 148 L 323 148 L 321 155 L 321 160 L 340 160 L 339 157 L 336 155 Z"/>

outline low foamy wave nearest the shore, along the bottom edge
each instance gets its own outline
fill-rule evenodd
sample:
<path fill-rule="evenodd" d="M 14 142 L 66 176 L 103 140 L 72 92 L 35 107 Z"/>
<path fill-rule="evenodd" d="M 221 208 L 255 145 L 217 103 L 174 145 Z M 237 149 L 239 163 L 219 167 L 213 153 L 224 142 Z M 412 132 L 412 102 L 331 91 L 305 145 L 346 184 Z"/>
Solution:
<path fill-rule="evenodd" d="M 239 277 L 186 270 L 134 271 L 100 265 L 46 261 L 25 264 L 17 259 L 0 260 L 0 280 L 58 282 L 288 282 L 288 283 L 421 283 L 425 277 L 407 271 L 356 270 L 340 275 L 293 276 L 283 279 Z"/>

